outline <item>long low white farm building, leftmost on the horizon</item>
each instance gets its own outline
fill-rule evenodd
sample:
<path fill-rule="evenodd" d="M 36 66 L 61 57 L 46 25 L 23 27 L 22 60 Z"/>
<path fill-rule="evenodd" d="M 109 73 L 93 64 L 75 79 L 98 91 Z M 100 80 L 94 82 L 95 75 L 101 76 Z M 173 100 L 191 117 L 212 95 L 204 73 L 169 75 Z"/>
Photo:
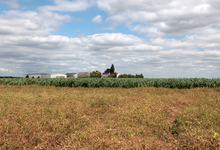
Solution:
<path fill-rule="evenodd" d="M 23 78 L 66 78 L 65 74 L 30 73 L 24 74 Z"/>

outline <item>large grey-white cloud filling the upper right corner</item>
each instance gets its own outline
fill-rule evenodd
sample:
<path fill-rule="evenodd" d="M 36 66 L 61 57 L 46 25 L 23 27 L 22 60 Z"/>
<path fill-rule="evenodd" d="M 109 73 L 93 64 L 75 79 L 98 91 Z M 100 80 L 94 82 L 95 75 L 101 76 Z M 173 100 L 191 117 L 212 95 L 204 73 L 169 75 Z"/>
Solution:
<path fill-rule="evenodd" d="M 182 36 L 220 25 L 217 0 L 97 0 L 97 6 L 109 13 L 111 26 L 125 24 L 148 37 Z"/>

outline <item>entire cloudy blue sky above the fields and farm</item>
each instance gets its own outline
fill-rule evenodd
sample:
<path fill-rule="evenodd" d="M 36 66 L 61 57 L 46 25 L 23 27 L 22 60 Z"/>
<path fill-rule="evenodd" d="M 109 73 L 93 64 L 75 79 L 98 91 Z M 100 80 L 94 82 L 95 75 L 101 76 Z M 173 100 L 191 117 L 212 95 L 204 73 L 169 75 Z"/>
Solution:
<path fill-rule="evenodd" d="M 0 76 L 220 78 L 219 0 L 0 0 Z"/>

